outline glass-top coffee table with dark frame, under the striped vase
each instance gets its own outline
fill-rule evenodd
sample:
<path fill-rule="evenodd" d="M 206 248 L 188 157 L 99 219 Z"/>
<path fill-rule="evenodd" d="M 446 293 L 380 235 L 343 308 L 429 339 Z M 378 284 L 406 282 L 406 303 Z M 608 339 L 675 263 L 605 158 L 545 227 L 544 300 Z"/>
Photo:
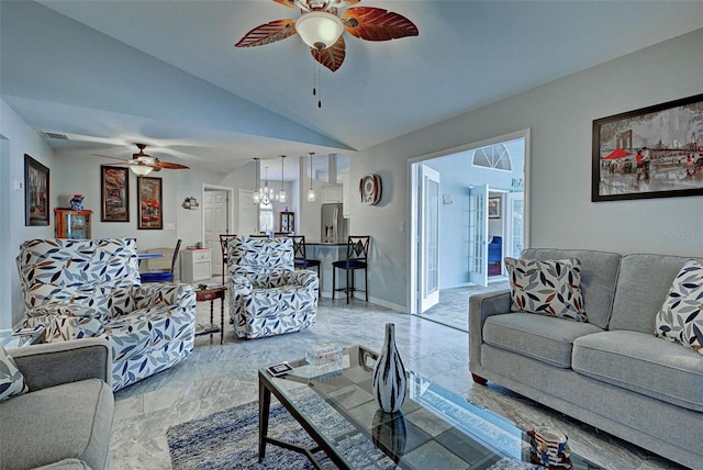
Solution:
<path fill-rule="evenodd" d="M 516 469 L 531 462 L 524 430 L 412 371 L 401 413 L 382 413 L 372 395 L 376 359 L 376 352 L 354 346 L 336 363 L 300 359 L 281 377 L 260 369 L 259 461 L 272 444 L 306 455 L 315 468 L 323 468 L 313 457 L 320 450 L 341 469 Z M 268 436 L 271 394 L 319 447 Z M 570 460 L 559 468 L 600 468 L 573 452 Z"/>

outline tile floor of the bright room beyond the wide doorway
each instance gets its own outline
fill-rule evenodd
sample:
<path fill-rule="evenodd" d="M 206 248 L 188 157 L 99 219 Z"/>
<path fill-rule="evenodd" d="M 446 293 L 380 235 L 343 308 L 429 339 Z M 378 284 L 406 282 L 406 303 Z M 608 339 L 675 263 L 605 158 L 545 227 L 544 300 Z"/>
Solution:
<path fill-rule="evenodd" d="M 510 289 L 507 278 L 504 276 L 489 278 L 488 287 L 464 286 L 460 288 L 439 290 L 439 303 L 422 313 L 423 318 L 450 326 L 453 328 L 469 331 L 469 296 L 479 292 Z"/>

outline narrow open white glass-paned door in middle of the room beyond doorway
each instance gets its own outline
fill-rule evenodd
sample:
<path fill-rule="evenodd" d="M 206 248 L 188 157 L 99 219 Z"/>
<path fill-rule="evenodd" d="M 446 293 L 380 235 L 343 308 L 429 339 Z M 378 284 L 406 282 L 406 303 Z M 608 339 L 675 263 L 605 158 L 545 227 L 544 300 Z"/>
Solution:
<path fill-rule="evenodd" d="M 469 282 L 488 286 L 488 184 L 469 189 Z"/>

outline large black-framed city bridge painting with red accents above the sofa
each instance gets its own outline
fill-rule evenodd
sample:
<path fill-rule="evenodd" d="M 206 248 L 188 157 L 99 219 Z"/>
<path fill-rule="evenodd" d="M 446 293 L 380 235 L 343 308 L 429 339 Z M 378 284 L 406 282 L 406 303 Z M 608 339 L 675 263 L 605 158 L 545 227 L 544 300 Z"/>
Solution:
<path fill-rule="evenodd" d="M 703 195 L 703 94 L 593 121 L 591 201 Z"/>

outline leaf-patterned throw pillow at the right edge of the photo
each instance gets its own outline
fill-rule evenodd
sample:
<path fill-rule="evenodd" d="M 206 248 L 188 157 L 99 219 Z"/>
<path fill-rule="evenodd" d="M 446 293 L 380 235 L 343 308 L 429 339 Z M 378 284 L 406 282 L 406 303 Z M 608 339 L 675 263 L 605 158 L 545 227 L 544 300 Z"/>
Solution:
<path fill-rule="evenodd" d="M 703 265 L 691 259 L 669 289 L 655 322 L 655 334 L 703 354 Z"/>

